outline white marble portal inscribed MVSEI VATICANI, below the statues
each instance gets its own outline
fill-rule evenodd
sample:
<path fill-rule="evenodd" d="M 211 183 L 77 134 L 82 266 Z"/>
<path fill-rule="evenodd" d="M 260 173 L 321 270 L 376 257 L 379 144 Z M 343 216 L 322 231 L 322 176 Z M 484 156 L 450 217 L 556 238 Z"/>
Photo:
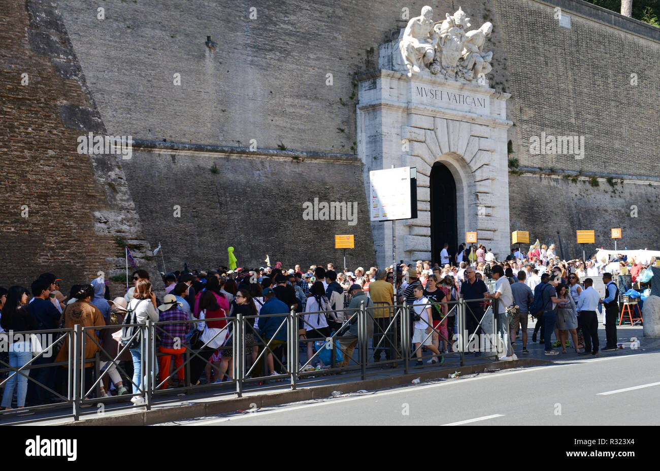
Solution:
<path fill-rule="evenodd" d="M 431 259 L 429 177 L 436 161 L 453 174 L 459 243 L 477 231 L 499 258 L 508 254 L 509 186 L 506 100 L 478 84 L 422 72 L 380 70 L 358 78 L 358 154 L 368 193 L 370 170 L 417 168 L 418 217 L 397 221 L 397 261 Z M 391 265 L 391 223 L 372 223 L 376 260 Z"/>

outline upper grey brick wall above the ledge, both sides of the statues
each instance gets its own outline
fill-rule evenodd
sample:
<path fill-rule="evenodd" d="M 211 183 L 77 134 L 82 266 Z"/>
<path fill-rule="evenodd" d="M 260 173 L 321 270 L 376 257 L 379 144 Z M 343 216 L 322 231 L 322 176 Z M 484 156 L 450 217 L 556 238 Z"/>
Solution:
<path fill-rule="evenodd" d="M 350 153 L 356 141 L 352 74 L 376 67 L 378 46 L 405 24 L 403 7 L 418 15 L 426 3 L 436 20 L 459 5 L 107 0 L 105 20 L 81 0 L 63 0 L 59 10 L 114 133 L 234 146 L 256 139 L 261 148 L 282 142 L 289 149 Z M 571 29 L 558 25 L 554 3 L 569 8 Z M 657 175 L 660 156 L 645 143 L 660 139 L 660 42 L 574 15 L 570 7 L 579 4 L 460 3 L 473 27 L 494 23 L 490 83 L 513 95 L 508 117 L 515 122 L 515 157 L 521 166 L 605 173 L 619 173 L 630 158 L 630 174 Z M 218 44 L 213 53 L 204 45 L 207 34 Z M 174 85 L 174 73 L 181 74 L 181 86 Z M 333 74 L 333 86 L 326 86 L 326 73 Z M 631 73 L 638 74 L 638 86 L 630 85 Z M 541 131 L 584 135 L 585 158 L 532 156 L 529 137 Z"/>

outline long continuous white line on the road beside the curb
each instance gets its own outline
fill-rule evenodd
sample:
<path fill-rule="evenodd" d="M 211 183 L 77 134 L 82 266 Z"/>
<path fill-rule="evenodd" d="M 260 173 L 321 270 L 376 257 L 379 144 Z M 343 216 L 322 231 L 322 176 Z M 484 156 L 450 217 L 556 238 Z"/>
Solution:
<path fill-rule="evenodd" d="M 325 406 L 329 404 L 338 404 L 339 402 L 349 402 L 353 400 L 360 400 L 364 398 L 374 398 L 374 396 L 389 396 L 390 394 L 401 394 L 402 392 L 410 392 L 410 391 L 420 391 L 422 389 L 431 389 L 431 388 L 436 388 L 436 387 L 441 387 L 441 386 L 449 386 L 449 385 L 457 385 L 457 384 L 463 384 L 466 383 L 467 381 L 479 381 L 482 379 L 487 379 L 487 378 L 499 378 L 502 376 L 508 376 L 508 375 L 516 375 L 518 373 L 529 373 L 531 371 L 542 371 L 544 369 L 548 368 L 560 368 L 560 367 L 566 367 L 566 366 L 572 366 L 575 365 L 576 363 L 591 363 L 593 361 L 607 361 L 607 360 L 617 360 L 621 358 L 631 358 L 632 355 L 626 355 L 626 356 L 612 356 L 612 357 L 607 357 L 607 358 L 589 358 L 585 360 L 566 360 L 566 363 L 554 363 L 552 365 L 545 365 L 545 366 L 538 366 L 538 367 L 528 367 L 524 369 L 517 369 L 514 371 L 497 371 L 493 373 L 492 375 L 479 375 L 475 377 L 467 377 L 467 378 L 457 378 L 453 379 L 453 381 L 441 381 L 440 383 L 432 383 L 430 385 L 415 385 L 415 386 L 407 386 L 407 387 L 397 387 L 397 389 L 391 390 L 391 391 L 380 391 L 380 392 L 373 392 L 372 394 L 362 394 L 360 396 L 352 396 L 352 397 L 347 397 L 347 398 L 336 398 L 336 399 L 329 399 L 329 400 L 323 400 L 322 402 L 314 402 L 312 404 L 302 404 L 300 406 L 281 406 L 277 409 L 274 410 L 264 410 L 263 412 L 248 412 L 246 414 L 242 414 L 240 416 L 232 416 L 232 417 L 224 417 L 224 418 L 210 418 L 209 420 L 198 420 L 195 422 L 191 422 L 189 424 L 182 424 L 182 425 L 209 425 L 213 423 L 219 423 L 219 422 L 229 422 L 230 420 L 240 420 L 240 419 L 245 419 L 249 417 L 261 417 L 266 414 L 277 414 L 279 412 L 288 412 L 291 410 L 300 410 L 300 409 L 307 409 L 307 408 L 312 408 L 312 407 L 317 407 L 317 406 Z M 248 396 L 246 396 L 248 397 Z M 449 424 L 447 424 L 449 425 Z"/>

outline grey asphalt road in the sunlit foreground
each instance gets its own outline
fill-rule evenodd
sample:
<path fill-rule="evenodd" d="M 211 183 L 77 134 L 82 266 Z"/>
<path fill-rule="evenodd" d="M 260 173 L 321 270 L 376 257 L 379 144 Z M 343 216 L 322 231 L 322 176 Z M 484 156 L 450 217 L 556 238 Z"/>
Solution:
<path fill-rule="evenodd" d="M 163 425 L 658 425 L 659 361 L 603 354 Z"/>

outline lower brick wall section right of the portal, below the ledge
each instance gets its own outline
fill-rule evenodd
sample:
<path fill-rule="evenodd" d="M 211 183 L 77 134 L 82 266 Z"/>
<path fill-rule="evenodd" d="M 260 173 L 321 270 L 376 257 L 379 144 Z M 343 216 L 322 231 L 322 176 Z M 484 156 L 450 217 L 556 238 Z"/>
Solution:
<path fill-rule="evenodd" d="M 594 230 L 595 244 L 585 244 L 587 257 L 597 247 L 614 249 L 612 228 L 621 228 L 618 249 L 657 250 L 660 231 L 658 183 L 639 181 L 591 181 L 541 175 L 510 175 L 512 197 L 511 230 L 529 231 L 531 242 L 557 246 L 557 253 L 566 259 L 582 257 L 582 245 L 577 243 L 576 230 Z M 560 251 L 560 248 L 562 251 Z M 527 247 L 529 249 L 529 246 Z"/>

